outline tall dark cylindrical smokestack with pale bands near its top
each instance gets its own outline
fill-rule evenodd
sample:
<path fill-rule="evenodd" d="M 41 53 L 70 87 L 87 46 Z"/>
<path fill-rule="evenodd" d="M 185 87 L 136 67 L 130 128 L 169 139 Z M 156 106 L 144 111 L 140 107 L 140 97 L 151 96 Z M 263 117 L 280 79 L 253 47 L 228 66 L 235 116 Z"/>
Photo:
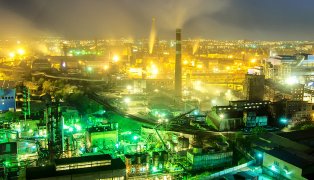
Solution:
<path fill-rule="evenodd" d="M 177 28 L 175 33 L 175 76 L 174 76 L 174 96 L 181 97 L 181 29 Z"/>

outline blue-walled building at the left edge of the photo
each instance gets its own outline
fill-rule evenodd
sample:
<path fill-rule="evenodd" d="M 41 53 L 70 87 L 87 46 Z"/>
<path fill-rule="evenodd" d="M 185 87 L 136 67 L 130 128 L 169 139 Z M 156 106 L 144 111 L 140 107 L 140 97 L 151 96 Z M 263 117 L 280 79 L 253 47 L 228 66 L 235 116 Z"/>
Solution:
<path fill-rule="evenodd" d="M 15 81 L 0 80 L 0 111 L 15 109 Z"/>

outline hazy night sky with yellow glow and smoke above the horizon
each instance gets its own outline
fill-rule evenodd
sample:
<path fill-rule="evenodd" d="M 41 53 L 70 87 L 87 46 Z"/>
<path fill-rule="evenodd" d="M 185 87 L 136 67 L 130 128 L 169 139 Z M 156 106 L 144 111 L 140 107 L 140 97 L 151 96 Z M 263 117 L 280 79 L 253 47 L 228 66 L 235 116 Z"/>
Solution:
<path fill-rule="evenodd" d="M 314 40 L 314 0 L 0 0 L 0 37 Z"/>

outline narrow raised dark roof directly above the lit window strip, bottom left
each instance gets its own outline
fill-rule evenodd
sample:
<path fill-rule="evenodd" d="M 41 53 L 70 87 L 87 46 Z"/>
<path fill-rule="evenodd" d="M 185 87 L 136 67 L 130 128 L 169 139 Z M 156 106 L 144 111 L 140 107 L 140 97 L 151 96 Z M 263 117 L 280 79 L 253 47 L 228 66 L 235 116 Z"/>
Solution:
<path fill-rule="evenodd" d="M 109 160 L 109 159 L 111 159 L 111 156 L 109 154 L 101 154 L 101 155 L 60 158 L 60 159 L 55 159 L 54 162 L 55 162 L 55 165 L 60 165 L 60 164 L 89 162 L 89 161 L 94 161 L 94 160 Z"/>

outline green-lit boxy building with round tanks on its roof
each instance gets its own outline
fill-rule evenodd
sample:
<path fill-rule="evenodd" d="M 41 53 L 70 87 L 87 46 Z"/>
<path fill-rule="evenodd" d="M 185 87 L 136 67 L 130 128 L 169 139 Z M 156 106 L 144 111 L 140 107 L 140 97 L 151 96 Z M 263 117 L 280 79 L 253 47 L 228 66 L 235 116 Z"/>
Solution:
<path fill-rule="evenodd" d="M 232 165 L 232 150 L 227 149 L 227 143 L 218 142 L 219 149 L 213 147 L 203 149 L 202 145 L 193 145 L 187 150 L 187 158 L 192 162 L 193 170 L 214 169 Z"/>

